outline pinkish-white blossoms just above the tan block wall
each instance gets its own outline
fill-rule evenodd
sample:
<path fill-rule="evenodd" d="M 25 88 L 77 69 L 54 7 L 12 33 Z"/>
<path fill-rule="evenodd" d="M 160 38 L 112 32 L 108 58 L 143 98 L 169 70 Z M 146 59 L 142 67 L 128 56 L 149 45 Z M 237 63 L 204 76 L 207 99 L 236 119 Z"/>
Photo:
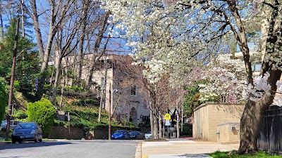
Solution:
<path fill-rule="evenodd" d="M 202 79 L 207 79 L 208 83 L 198 85 L 202 87 L 200 100 L 219 98 L 224 103 L 238 103 L 243 100 L 242 93 L 246 91 L 247 81 L 242 60 L 233 60 L 230 55 L 219 55 L 204 67 L 201 74 Z"/>

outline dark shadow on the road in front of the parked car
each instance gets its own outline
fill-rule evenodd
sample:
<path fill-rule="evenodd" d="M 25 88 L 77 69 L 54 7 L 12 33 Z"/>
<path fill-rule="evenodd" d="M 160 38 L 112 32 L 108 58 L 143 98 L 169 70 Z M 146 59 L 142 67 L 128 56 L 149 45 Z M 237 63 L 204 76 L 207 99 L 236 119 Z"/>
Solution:
<path fill-rule="evenodd" d="M 0 145 L 0 150 L 6 150 L 6 149 L 19 149 L 19 148 L 27 148 L 27 147 L 47 147 L 47 146 L 53 146 L 53 145 L 67 145 L 71 144 L 69 142 L 61 142 L 61 141 L 50 141 L 50 142 L 41 142 L 41 143 L 20 143 L 20 144 L 6 144 L 6 145 Z"/>

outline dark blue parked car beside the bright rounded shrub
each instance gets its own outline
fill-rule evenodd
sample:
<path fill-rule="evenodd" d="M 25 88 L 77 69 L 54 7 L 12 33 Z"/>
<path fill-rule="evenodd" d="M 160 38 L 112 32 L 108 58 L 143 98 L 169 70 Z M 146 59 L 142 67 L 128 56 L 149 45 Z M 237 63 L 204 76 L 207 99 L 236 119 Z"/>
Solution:
<path fill-rule="evenodd" d="M 12 143 L 23 141 L 42 142 L 42 130 L 36 122 L 20 122 L 12 133 Z"/>

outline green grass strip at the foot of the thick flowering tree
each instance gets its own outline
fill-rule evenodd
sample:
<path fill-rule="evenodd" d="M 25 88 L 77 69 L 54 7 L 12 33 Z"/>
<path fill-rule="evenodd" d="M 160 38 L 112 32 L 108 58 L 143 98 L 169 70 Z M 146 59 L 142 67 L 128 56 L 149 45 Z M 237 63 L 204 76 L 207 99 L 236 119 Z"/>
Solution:
<path fill-rule="evenodd" d="M 209 156 L 213 157 L 213 158 L 247 158 L 247 157 L 255 157 L 255 158 L 282 158 L 281 155 L 277 155 L 277 154 L 269 154 L 267 152 L 264 151 L 258 151 L 255 154 L 242 154 L 242 155 L 238 155 L 236 154 L 236 151 L 232 151 L 232 152 L 214 152 L 214 153 L 210 153 Z"/>

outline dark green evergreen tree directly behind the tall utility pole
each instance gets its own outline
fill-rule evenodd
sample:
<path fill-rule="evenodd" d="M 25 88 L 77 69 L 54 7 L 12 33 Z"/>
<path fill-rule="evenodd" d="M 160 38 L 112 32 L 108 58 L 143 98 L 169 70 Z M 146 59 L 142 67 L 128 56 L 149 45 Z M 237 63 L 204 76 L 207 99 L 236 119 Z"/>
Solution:
<path fill-rule="evenodd" d="M 16 20 L 13 19 L 6 29 L 4 41 L 0 44 L 0 76 L 5 77 L 7 81 L 11 77 L 15 32 Z M 29 38 L 30 36 L 25 36 L 18 39 L 15 86 L 18 91 L 23 93 L 31 93 L 35 90 L 37 74 L 39 73 L 39 58 L 38 52 L 35 49 L 36 44 Z"/>

